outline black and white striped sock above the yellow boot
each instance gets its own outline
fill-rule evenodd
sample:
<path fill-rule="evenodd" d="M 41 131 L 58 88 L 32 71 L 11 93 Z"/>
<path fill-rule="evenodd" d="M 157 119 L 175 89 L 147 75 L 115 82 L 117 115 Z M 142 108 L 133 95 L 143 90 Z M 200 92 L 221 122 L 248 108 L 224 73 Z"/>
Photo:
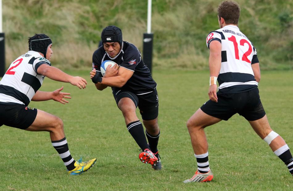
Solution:
<path fill-rule="evenodd" d="M 52 141 L 52 145 L 56 149 L 56 151 L 59 153 L 59 156 L 63 160 L 66 168 L 68 170 L 73 170 L 75 168 L 74 166 L 75 160 L 70 155 L 66 138 L 64 137 L 63 139 L 59 141 Z"/>

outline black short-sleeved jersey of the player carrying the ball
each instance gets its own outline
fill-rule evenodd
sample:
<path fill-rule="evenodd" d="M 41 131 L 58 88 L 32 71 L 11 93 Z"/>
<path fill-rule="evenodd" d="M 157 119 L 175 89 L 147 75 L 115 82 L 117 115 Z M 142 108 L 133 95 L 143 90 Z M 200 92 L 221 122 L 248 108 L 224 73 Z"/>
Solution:
<path fill-rule="evenodd" d="M 93 53 L 93 68 L 102 77 L 101 63 L 105 60 L 116 62 L 120 67 L 131 70 L 134 73 L 121 88 L 112 87 L 113 91 L 131 91 L 137 95 L 151 93 L 157 84 L 152 78 L 150 70 L 142 61 L 139 50 L 136 46 L 126 41 L 123 41 L 121 46 L 122 49 L 114 58 L 109 57 L 103 46 L 99 47 Z"/>

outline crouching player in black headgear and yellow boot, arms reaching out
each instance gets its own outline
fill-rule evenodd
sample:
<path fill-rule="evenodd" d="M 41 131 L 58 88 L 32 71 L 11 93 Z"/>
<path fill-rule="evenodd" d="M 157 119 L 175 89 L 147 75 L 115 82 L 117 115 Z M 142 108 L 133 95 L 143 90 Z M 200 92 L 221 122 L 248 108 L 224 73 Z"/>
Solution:
<path fill-rule="evenodd" d="M 85 88 L 86 80 L 70 76 L 51 66 L 52 41 L 45 34 L 29 38 L 29 51 L 11 63 L 0 81 L 0 126 L 7 125 L 27 131 L 48 131 L 53 147 L 59 153 L 70 175 L 77 175 L 90 169 L 96 158 L 82 162 L 75 161 L 68 149 L 63 122 L 60 118 L 40 109 L 29 108 L 30 101 L 54 100 L 68 103 L 63 87 L 53 92 L 39 91 L 46 77 L 59 82 L 69 82 Z"/>

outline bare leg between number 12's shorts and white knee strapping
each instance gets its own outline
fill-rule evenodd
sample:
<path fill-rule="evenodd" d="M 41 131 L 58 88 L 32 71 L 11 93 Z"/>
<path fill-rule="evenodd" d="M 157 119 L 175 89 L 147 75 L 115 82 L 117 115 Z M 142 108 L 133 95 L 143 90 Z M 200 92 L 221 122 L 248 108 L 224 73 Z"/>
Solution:
<path fill-rule="evenodd" d="M 255 133 L 258 134 L 259 137 L 264 139 L 271 131 L 269 121 L 266 115 L 258 120 L 248 121 L 251 127 L 254 129 Z"/>

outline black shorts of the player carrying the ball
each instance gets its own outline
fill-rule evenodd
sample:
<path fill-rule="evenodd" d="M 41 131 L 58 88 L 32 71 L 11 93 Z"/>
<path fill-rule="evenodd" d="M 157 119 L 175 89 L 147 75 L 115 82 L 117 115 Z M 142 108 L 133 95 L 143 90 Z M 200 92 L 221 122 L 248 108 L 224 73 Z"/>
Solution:
<path fill-rule="evenodd" d="M 130 98 L 135 107 L 138 107 L 143 120 L 153 120 L 158 117 L 159 114 L 159 97 L 158 92 L 155 89 L 153 92 L 148 94 L 136 95 L 130 91 L 113 91 L 116 104 L 124 98 Z"/>

